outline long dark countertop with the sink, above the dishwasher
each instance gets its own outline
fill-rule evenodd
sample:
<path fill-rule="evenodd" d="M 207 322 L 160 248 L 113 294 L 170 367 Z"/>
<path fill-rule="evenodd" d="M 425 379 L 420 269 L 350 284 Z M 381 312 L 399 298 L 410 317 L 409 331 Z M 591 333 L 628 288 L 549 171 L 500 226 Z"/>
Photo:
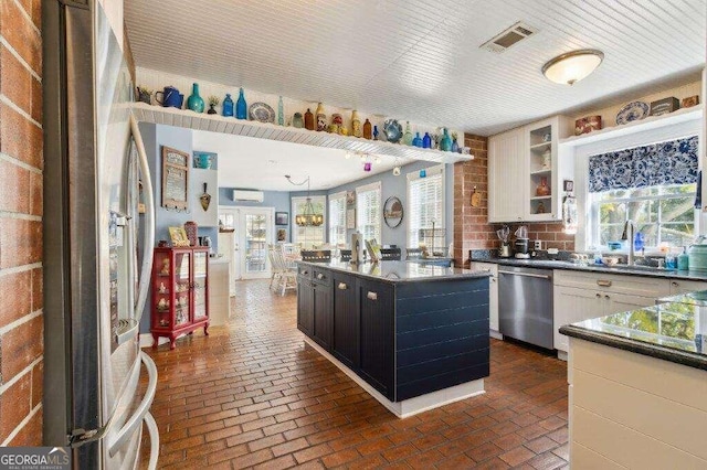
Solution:
<path fill-rule="evenodd" d="M 707 271 L 689 271 L 677 269 L 661 269 L 652 268 L 648 266 L 620 266 L 609 267 L 604 265 L 576 265 L 566 260 L 550 260 L 550 259 L 516 259 L 516 258 L 482 258 L 472 259 L 472 263 L 495 263 L 497 265 L 505 266 L 523 266 L 535 267 L 546 269 L 568 269 L 576 271 L 592 271 L 616 275 L 630 275 L 630 276 L 647 276 L 647 277 L 662 277 L 667 279 L 687 279 L 687 280 L 705 280 L 707 281 Z"/>

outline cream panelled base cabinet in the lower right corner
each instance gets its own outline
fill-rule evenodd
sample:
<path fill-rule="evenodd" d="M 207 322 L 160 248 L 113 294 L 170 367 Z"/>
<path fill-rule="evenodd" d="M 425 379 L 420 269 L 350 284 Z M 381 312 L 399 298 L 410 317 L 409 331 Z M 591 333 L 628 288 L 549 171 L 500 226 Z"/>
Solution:
<path fill-rule="evenodd" d="M 707 468 L 707 371 L 569 341 L 573 469 Z"/>

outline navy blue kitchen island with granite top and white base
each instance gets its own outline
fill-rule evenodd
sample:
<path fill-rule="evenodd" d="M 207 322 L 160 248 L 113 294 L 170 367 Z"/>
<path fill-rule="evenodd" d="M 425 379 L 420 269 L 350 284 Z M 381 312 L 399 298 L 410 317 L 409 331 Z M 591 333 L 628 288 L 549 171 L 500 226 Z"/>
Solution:
<path fill-rule="evenodd" d="M 297 287 L 307 343 L 397 416 L 483 393 L 488 273 L 300 261 Z"/>

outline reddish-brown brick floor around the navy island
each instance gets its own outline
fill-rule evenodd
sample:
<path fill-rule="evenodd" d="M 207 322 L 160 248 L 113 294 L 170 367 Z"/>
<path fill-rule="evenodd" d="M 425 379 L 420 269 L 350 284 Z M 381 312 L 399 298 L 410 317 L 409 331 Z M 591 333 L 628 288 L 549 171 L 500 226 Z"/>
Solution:
<path fill-rule="evenodd" d="M 567 467 L 563 362 L 492 340 L 486 394 L 399 419 L 305 345 L 295 295 L 267 284 L 238 282 L 228 327 L 145 350 L 160 468 Z"/>

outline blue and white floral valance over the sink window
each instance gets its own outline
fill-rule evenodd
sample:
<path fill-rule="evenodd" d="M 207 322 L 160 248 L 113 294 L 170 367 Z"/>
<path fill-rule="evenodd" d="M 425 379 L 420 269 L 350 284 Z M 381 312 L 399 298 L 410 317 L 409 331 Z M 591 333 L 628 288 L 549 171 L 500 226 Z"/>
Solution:
<path fill-rule="evenodd" d="M 589 158 L 589 192 L 697 181 L 697 136 Z"/>

